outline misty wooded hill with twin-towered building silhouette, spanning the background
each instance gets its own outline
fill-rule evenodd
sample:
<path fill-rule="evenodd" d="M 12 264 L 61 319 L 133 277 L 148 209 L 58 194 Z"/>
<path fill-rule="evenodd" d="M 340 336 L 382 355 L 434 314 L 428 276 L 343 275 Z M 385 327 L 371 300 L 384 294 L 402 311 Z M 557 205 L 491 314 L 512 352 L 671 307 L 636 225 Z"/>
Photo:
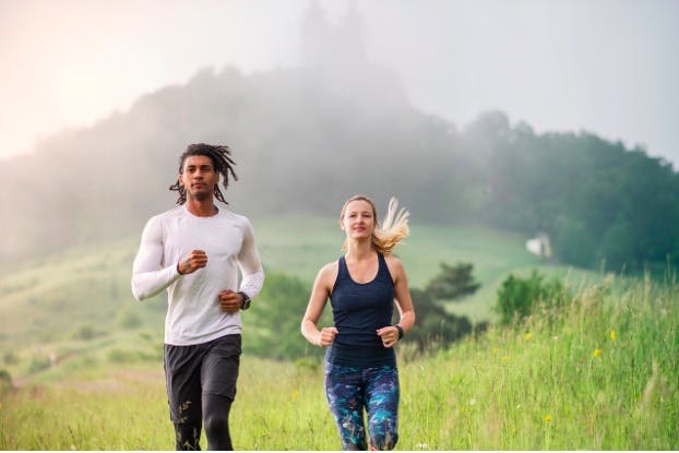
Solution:
<path fill-rule="evenodd" d="M 679 175 L 667 162 L 591 133 L 535 134 L 502 112 L 458 130 L 366 59 L 359 19 L 331 35 L 319 14 L 303 23 L 299 67 L 203 69 L 1 162 L 3 258 L 139 234 L 174 204 L 179 154 L 206 142 L 234 150 L 240 180 L 226 199 L 245 214 L 336 215 L 356 193 L 381 206 L 396 195 L 426 222 L 546 233 L 568 263 L 679 262 Z"/>

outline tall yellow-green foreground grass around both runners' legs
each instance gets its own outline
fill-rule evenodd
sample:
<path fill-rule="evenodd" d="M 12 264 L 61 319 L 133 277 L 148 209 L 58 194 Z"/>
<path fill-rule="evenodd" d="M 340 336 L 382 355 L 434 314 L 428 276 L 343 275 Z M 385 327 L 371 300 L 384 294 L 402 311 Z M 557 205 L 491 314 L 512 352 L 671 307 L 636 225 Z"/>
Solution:
<path fill-rule="evenodd" d="M 679 449 L 679 286 L 621 286 L 572 288 L 565 306 L 428 357 L 401 348 L 397 449 Z M 110 375 L 4 394 L 0 449 L 171 449 L 160 365 Z M 243 357 L 235 446 L 338 449 L 322 380 L 318 366 Z"/>

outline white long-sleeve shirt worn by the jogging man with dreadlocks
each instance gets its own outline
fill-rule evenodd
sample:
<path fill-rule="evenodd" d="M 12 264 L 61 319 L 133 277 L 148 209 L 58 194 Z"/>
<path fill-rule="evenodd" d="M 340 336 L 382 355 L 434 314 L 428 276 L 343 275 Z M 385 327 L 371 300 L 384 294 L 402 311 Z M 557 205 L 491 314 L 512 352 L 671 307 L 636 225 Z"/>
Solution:
<path fill-rule="evenodd" d="M 192 250 L 204 250 L 207 265 L 181 275 L 177 264 Z M 186 205 L 152 217 L 144 227 L 132 267 L 136 300 L 167 289 L 165 343 L 176 346 L 240 333 L 240 311 L 222 311 L 218 294 L 233 289 L 254 298 L 263 284 L 264 271 L 250 220 L 224 207 L 211 217 L 195 216 Z"/>

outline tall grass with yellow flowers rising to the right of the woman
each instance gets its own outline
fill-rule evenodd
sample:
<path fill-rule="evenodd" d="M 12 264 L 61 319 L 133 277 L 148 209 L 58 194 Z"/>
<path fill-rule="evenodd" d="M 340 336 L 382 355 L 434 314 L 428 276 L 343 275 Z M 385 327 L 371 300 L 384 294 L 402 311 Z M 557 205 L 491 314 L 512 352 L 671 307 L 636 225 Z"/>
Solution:
<path fill-rule="evenodd" d="M 408 363 L 419 378 L 404 385 L 403 432 L 416 428 L 401 446 L 676 450 L 678 303 L 674 284 L 616 294 L 608 281 L 558 312 Z"/>

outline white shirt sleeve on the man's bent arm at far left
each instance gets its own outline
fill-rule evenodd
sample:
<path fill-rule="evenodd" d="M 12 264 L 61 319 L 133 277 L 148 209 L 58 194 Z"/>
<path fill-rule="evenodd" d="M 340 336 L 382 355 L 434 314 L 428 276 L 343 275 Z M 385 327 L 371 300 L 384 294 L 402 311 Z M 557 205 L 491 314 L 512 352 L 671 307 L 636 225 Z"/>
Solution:
<path fill-rule="evenodd" d="M 177 263 L 163 265 L 163 227 L 157 217 L 146 223 L 142 241 L 132 265 L 132 295 L 136 300 L 153 297 L 167 288 L 181 274 Z"/>

